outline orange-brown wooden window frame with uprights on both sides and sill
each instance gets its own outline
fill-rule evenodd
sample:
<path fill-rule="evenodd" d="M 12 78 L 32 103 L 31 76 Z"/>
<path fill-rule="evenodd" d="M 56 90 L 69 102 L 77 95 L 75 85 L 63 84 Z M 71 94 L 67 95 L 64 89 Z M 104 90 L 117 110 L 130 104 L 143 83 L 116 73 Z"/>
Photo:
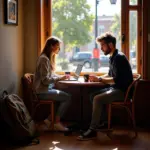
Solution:
<path fill-rule="evenodd" d="M 148 41 L 147 41 L 147 18 L 148 18 L 148 0 L 138 0 L 138 5 L 129 5 L 129 0 L 122 0 L 121 16 L 125 15 L 124 19 L 121 20 L 122 34 L 126 35 L 126 42 L 122 44 L 123 52 L 129 59 L 129 24 L 126 20 L 129 20 L 129 11 L 138 11 L 138 68 L 137 72 L 142 75 L 144 79 L 148 78 Z M 45 40 L 52 34 L 52 0 L 39 0 L 38 1 L 38 55 L 43 49 Z M 144 25 L 143 25 L 144 24 Z M 143 28 L 144 26 L 144 28 Z M 57 72 L 58 74 L 64 74 L 64 72 Z M 91 72 L 84 72 L 85 73 Z M 102 75 L 104 73 L 93 72 L 96 75 Z"/>

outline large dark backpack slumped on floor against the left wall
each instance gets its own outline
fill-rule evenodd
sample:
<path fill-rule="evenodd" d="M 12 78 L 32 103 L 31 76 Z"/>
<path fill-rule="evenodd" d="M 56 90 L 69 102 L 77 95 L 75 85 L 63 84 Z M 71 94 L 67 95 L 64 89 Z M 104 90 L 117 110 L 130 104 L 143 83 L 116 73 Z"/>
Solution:
<path fill-rule="evenodd" d="M 16 94 L 3 91 L 0 113 L 7 124 L 7 137 L 14 144 L 39 144 L 38 132 L 23 100 Z M 8 133 L 9 131 L 9 133 Z"/>

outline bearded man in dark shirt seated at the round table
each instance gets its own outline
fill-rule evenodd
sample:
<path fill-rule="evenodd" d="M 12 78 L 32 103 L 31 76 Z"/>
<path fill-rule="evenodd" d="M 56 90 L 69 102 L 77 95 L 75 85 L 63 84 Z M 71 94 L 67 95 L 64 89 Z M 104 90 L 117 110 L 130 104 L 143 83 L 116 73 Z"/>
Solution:
<path fill-rule="evenodd" d="M 77 138 L 78 140 L 96 138 L 103 106 L 113 101 L 124 100 L 125 92 L 133 81 L 131 66 L 126 56 L 116 49 L 116 38 L 111 33 L 105 33 L 97 37 L 96 42 L 100 44 L 105 55 L 110 55 L 109 72 L 100 78 L 90 75 L 90 81 L 110 84 L 110 87 L 91 95 L 93 99 L 91 124 L 89 129 Z"/>

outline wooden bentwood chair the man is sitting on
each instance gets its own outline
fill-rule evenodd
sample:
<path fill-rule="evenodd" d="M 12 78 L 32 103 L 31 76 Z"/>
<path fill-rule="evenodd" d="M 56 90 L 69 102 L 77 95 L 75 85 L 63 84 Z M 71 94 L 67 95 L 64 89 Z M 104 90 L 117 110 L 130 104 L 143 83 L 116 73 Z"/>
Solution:
<path fill-rule="evenodd" d="M 112 116 L 112 107 L 122 107 L 125 108 L 125 110 L 128 112 L 128 115 L 130 116 L 132 120 L 132 125 L 135 131 L 135 136 L 137 136 L 136 123 L 135 123 L 135 110 L 134 110 L 134 96 L 136 93 L 136 86 L 137 82 L 140 80 L 141 75 L 140 74 L 134 74 L 133 75 L 133 82 L 128 87 L 125 99 L 123 102 L 112 102 L 111 104 L 108 104 L 108 130 L 110 130 L 110 123 L 111 123 L 111 116 Z M 130 96 L 130 92 L 134 87 L 133 96 Z"/>

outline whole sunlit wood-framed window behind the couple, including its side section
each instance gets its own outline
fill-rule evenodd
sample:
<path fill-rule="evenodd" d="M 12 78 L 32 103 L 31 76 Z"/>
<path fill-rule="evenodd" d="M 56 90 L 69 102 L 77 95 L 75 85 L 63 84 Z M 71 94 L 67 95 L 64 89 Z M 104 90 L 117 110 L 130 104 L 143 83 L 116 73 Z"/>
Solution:
<path fill-rule="evenodd" d="M 86 67 L 86 58 L 80 63 L 84 65 L 83 72 L 93 72 L 93 51 L 97 47 L 95 44 L 96 31 L 97 35 L 111 31 L 117 38 L 116 47 L 125 53 L 133 71 L 142 72 L 141 0 L 117 0 L 116 4 L 110 4 L 110 0 L 99 0 L 97 20 L 95 1 L 86 0 L 82 3 L 82 1 L 74 0 L 41 0 L 41 2 L 46 3 L 41 4 L 42 8 L 46 7 L 41 12 L 41 34 L 44 33 L 42 38 L 46 39 L 49 35 L 55 35 L 63 41 L 61 51 L 57 56 L 57 71 L 74 71 L 76 64 L 73 64 L 72 58 L 78 53 L 89 52 L 92 55 L 89 59 L 90 67 Z M 49 8 L 52 8 L 52 11 L 48 10 Z M 52 14 L 46 15 L 49 12 Z M 96 22 L 97 30 L 95 30 Z M 104 60 L 103 53 L 99 46 L 98 49 L 99 60 L 96 72 L 107 72 L 108 65 L 101 63 Z"/>

